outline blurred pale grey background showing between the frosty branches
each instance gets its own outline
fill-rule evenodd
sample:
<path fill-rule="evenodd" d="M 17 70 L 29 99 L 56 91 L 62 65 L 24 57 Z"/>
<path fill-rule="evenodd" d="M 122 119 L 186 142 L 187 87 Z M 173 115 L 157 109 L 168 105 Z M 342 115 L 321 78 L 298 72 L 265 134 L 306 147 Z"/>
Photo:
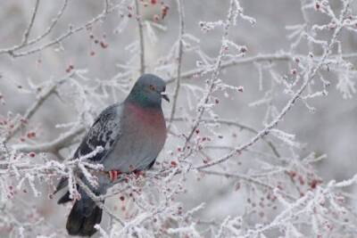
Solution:
<path fill-rule="evenodd" d="M 118 3 L 119 1 L 113 2 Z M 21 130 L 18 137 L 13 138 L 12 144 L 17 144 L 21 135 L 26 137 L 30 130 L 36 130 L 37 136 L 34 140 L 26 143 L 37 144 L 39 142 L 51 141 L 57 138 L 66 128 L 56 128 L 57 124 L 71 123 L 79 118 L 79 114 L 85 113 L 85 122 L 90 126 L 93 117 L 97 115 L 106 105 L 121 101 L 128 94 L 129 88 L 135 82 L 139 75 L 139 58 L 137 53 L 130 52 L 128 46 L 135 47 L 138 41 L 137 21 L 134 16 L 134 10 L 129 10 L 132 5 L 130 1 L 120 11 L 114 11 L 96 23 L 91 29 L 81 30 L 63 40 L 61 44 L 48 47 L 37 53 L 32 53 L 23 57 L 12 58 L 7 53 L 0 54 L 0 94 L 4 96 L 4 104 L 0 105 L 0 117 L 5 118 L 11 111 L 14 114 L 23 114 L 29 106 L 35 101 L 34 90 L 29 86 L 29 81 L 34 84 L 40 84 L 52 78 L 63 78 L 66 76 L 66 70 L 70 65 L 74 70 L 86 70 L 83 73 L 87 77 L 87 85 L 100 80 L 110 80 L 115 78 L 120 72 L 124 72 L 125 67 L 133 69 L 133 73 L 125 76 L 125 84 L 121 88 L 115 86 L 108 89 L 108 96 L 102 97 L 100 90 L 94 92 L 85 92 L 82 100 L 78 99 L 79 92 L 73 88 L 73 85 L 62 86 L 59 95 L 51 95 L 41 108 L 35 113 L 29 121 L 26 129 Z M 148 1 L 150 2 L 150 1 Z M 171 75 L 158 67 L 162 65 L 159 60 L 168 56 L 171 46 L 175 44 L 179 36 L 179 15 L 177 12 L 176 1 L 163 1 L 170 7 L 167 16 L 157 21 L 162 29 L 151 26 L 144 28 L 145 33 L 145 62 L 146 71 L 156 73 L 162 78 L 169 79 Z M 203 32 L 200 29 L 200 21 L 218 21 L 225 19 L 228 11 L 229 1 L 209 0 L 209 1 L 182 1 L 185 9 L 185 31 L 195 36 L 199 42 L 193 45 L 199 45 L 204 53 L 214 58 L 220 50 L 220 38 L 222 31 L 215 29 L 210 32 Z M 312 1 L 313 2 L 313 1 Z M 12 0 L 2 1 L 0 7 L 0 48 L 4 49 L 12 45 L 21 43 L 23 31 L 28 27 L 31 17 L 31 9 L 35 1 Z M 290 31 L 286 26 L 303 23 L 303 13 L 301 2 L 297 0 L 241 0 L 241 6 L 245 14 L 256 19 L 252 26 L 248 21 L 237 22 L 237 27 L 229 32 L 229 38 L 238 45 L 245 45 L 247 53 L 245 57 L 257 54 L 270 54 L 278 52 L 288 52 L 293 40 L 287 38 Z M 339 9 L 341 4 L 338 1 L 330 1 L 334 9 Z M 55 28 L 43 39 L 46 43 L 65 33 L 70 25 L 74 28 L 93 19 L 97 14 L 103 11 L 103 1 L 70 0 L 62 18 L 58 21 Z M 37 18 L 34 21 L 30 38 L 41 35 L 54 19 L 57 12 L 62 7 L 62 1 L 41 1 L 38 7 Z M 140 11 L 143 14 L 144 21 L 153 21 L 155 14 L 161 14 L 162 4 L 141 4 Z M 353 10 L 356 4 L 353 4 Z M 315 11 L 306 10 L 308 21 L 317 23 L 324 22 L 326 18 Z M 149 36 L 154 32 L 155 37 Z M 93 36 L 94 38 L 91 38 Z M 328 34 L 325 34 L 328 37 Z M 340 37 L 343 41 L 343 53 L 355 53 L 356 36 L 353 33 L 344 31 Z M 95 40 L 99 43 L 95 44 Z M 101 42 L 105 45 L 101 46 Z M 43 45 L 39 42 L 38 45 Z M 107 45 L 107 46 L 106 46 Z M 36 45 L 33 45 L 36 47 Z M 32 46 L 26 49 L 31 49 Z M 20 51 L 21 52 L 21 51 Z M 309 49 L 306 43 L 299 45 L 295 53 L 306 55 Z M 321 54 L 319 47 L 313 48 L 313 53 Z M 134 55 L 134 57 L 133 57 Z M 186 52 L 183 55 L 182 72 L 196 68 L 196 61 L 199 60 L 196 53 Z M 351 59 L 355 67 L 355 61 Z M 275 64 L 274 70 L 278 75 L 284 76 L 290 74 L 294 63 L 290 62 L 272 62 Z M 269 64 L 269 63 L 266 63 Z M 263 64 L 263 65 L 266 65 Z M 170 70 L 174 71 L 174 70 Z M 262 129 L 262 119 L 265 116 L 266 107 L 251 107 L 253 103 L 262 98 L 265 92 L 270 88 L 271 75 L 268 71 L 262 72 L 262 90 L 259 90 L 259 72 L 254 63 L 236 65 L 222 70 L 220 78 L 225 83 L 232 86 L 243 86 L 243 93 L 229 92 L 227 95 L 216 94 L 220 98 L 220 104 L 215 109 L 221 119 L 233 119 L 255 128 Z M 327 159 L 320 160 L 313 164 L 323 181 L 335 179 L 337 181 L 352 177 L 357 169 L 357 102 L 353 94 L 352 98 L 345 99 L 343 94 L 336 89 L 336 75 L 330 73 L 326 78 L 331 82 L 328 88 L 328 95 L 318 97 L 309 101 L 309 104 L 316 108 L 311 113 L 303 103 L 297 102 L 292 111 L 289 111 L 278 127 L 287 133 L 295 134 L 296 140 L 303 144 L 303 149 L 296 152 L 301 157 L 309 152 L 317 154 L 327 154 Z M 188 79 L 189 82 L 200 86 L 205 78 Z M 95 81 L 97 80 L 97 81 Z M 121 80 L 121 79 L 120 79 Z M 354 82 L 356 78 L 353 78 Z M 79 80 L 80 81 L 80 80 Z M 80 81 L 82 82 L 82 81 Z M 174 92 L 174 84 L 168 87 L 169 93 Z M 184 111 L 187 108 L 187 89 L 181 88 L 179 95 L 179 105 Z M 289 98 L 282 94 L 283 86 L 276 89 L 272 103 L 278 109 L 283 107 Z M 83 93 L 83 92 L 81 92 Z M 80 94 L 81 94 L 80 93 Z M 87 93 L 87 94 L 86 94 Z M 189 92 L 188 92 L 189 94 Z M 170 104 L 163 104 L 165 115 L 170 115 Z M 80 113 L 79 113 L 80 112 Z M 83 115 L 82 115 L 83 116 Z M 178 123 L 174 130 L 184 131 Z M 183 127 L 183 126 L 182 126 Z M 240 131 L 237 128 L 220 127 L 220 134 L 228 135 L 216 144 L 236 146 L 245 143 L 252 134 Z M 237 133 L 237 138 L 229 136 Z M 159 161 L 169 160 L 170 151 L 174 150 L 178 140 L 169 137 L 165 149 L 160 155 Z M 279 146 L 279 145 L 278 145 Z M 269 152 L 269 148 L 264 144 L 259 144 L 255 149 Z M 62 156 L 71 157 L 75 145 L 62 150 Z M 281 148 L 282 152 L 286 152 Z M 212 152 L 213 158 L 220 157 L 220 152 Z M 259 167 L 255 163 L 252 154 L 244 154 L 239 157 L 242 166 L 239 172 L 245 173 L 253 168 Z M 199 177 L 199 176 L 198 176 Z M 224 219 L 228 215 L 231 217 L 242 215 L 245 212 L 244 204 L 246 200 L 245 193 L 235 190 L 235 183 L 224 177 L 205 177 L 197 180 L 196 175 L 189 175 L 187 180 L 187 193 L 179 196 L 185 209 L 193 208 L 201 202 L 205 202 L 205 209 L 201 211 L 203 220 Z M 19 200 L 30 201 L 37 209 L 38 214 L 46 217 L 46 221 L 51 223 L 57 230 L 59 237 L 65 235 L 64 221 L 69 208 L 58 206 L 56 198 L 49 200 L 47 194 L 51 193 L 53 187 L 39 183 L 42 186 L 41 196 L 34 198 L 31 193 L 19 194 Z M 353 191 L 350 191 L 353 192 Z M 19 192 L 20 193 L 20 192 Z M 354 192 L 353 192 L 354 193 Z M 120 201 L 113 199 L 111 206 L 120 207 Z M 15 206 L 16 204 L 12 204 Z M 355 207 L 355 204 L 354 204 Z M 24 214 L 30 213 L 29 210 L 23 211 Z M 265 218 L 269 220 L 268 218 Z M 267 220 L 265 220 L 267 221 Z M 0 230 L 0 234 L 7 236 L 6 230 Z"/>

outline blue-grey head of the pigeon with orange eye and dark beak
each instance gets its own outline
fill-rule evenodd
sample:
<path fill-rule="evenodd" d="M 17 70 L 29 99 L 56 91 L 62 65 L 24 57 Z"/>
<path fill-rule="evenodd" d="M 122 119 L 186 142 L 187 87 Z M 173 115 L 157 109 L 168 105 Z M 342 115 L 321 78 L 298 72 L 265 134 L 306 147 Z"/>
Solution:
<path fill-rule="evenodd" d="M 165 90 L 166 84 L 162 78 L 152 74 L 144 74 L 137 79 L 128 100 L 143 107 L 160 107 L 162 98 L 170 102 Z"/>

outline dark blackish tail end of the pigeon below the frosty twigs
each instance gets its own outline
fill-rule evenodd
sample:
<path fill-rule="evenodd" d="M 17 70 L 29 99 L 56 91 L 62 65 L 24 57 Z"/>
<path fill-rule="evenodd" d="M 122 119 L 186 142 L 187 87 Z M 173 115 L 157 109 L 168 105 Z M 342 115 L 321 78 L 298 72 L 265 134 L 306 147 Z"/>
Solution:
<path fill-rule="evenodd" d="M 71 235 L 91 236 L 95 234 L 95 224 L 102 220 L 102 209 L 90 198 L 76 201 L 67 219 L 67 231 Z"/>

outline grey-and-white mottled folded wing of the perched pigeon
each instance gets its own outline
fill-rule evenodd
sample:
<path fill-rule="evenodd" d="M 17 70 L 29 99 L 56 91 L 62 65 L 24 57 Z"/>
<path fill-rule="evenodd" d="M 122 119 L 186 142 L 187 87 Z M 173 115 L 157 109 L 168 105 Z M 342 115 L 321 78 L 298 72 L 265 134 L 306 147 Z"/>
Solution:
<path fill-rule="evenodd" d="M 87 135 L 79 144 L 79 148 L 74 153 L 73 158 L 77 159 L 95 151 L 97 146 L 102 146 L 104 150 L 96 153 L 95 156 L 88 160 L 95 162 L 103 161 L 108 153 L 112 151 L 114 144 L 120 139 L 121 111 L 121 104 L 113 104 L 102 111 L 102 113 L 95 119 L 95 122 L 93 126 L 90 127 Z"/>

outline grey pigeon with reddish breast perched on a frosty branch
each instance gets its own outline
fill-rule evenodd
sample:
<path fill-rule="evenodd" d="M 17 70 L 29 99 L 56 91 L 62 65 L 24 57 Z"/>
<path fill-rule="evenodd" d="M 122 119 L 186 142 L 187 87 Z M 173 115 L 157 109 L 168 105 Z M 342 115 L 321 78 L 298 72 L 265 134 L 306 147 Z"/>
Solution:
<path fill-rule="evenodd" d="M 78 172 L 79 179 L 95 195 L 106 193 L 118 174 L 142 171 L 154 165 L 166 139 L 162 99 L 169 102 L 169 98 L 165 87 L 162 78 L 145 74 L 137 79 L 123 103 L 109 106 L 95 119 L 73 156 L 79 158 L 94 152 L 98 146 L 103 148 L 88 159 L 103 165 L 104 173 L 98 175 L 98 186 L 90 185 L 86 176 Z M 56 192 L 67 185 L 68 178 L 62 178 Z M 81 186 L 77 188 L 80 199 L 74 202 L 66 228 L 71 235 L 91 236 L 95 234 L 95 224 L 102 220 L 102 209 Z M 72 201 L 70 192 L 58 203 L 68 201 Z"/>

